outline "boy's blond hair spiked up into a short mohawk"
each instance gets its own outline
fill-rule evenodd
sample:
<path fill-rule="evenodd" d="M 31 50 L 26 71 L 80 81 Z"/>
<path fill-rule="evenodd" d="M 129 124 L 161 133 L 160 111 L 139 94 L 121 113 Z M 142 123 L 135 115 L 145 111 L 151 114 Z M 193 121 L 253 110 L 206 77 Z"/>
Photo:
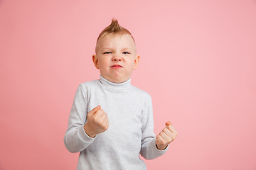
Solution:
<path fill-rule="evenodd" d="M 132 37 L 132 34 L 129 32 L 129 30 L 120 26 L 118 21 L 115 18 L 112 18 L 112 22 L 111 22 L 110 26 L 107 26 L 104 30 L 102 30 L 99 37 L 97 38 L 97 42 L 101 38 L 104 38 L 105 35 L 108 35 L 108 34 L 112 34 L 112 35 L 128 34 L 128 35 L 131 35 L 131 37 Z M 132 40 L 134 40 L 133 37 L 132 37 Z M 95 51 L 97 51 L 97 42 L 96 42 Z M 134 40 L 134 44 L 135 44 L 135 40 Z"/>

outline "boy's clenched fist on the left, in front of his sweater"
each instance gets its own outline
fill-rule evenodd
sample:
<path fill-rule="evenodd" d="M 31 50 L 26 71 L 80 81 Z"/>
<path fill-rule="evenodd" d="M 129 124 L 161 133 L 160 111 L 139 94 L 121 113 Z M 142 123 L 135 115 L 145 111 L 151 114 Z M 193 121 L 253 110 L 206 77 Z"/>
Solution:
<path fill-rule="evenodd" d="M 88 136 L 95 137 L 97 134 L 105 132 L 109 124 L 107 113 L 99 105 L 87 113 L 87 123 L 84 125 L 84 130 Z"/>

